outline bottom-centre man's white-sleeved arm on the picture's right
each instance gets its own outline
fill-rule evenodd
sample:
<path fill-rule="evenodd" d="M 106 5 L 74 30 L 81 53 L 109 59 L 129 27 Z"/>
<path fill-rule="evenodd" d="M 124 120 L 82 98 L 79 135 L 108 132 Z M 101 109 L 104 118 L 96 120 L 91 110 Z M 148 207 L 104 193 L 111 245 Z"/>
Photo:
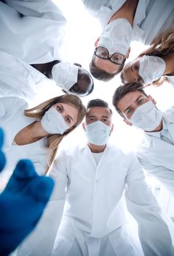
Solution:
<path fill-rule="evenodd" d="M 138 234 L 144 254 L 147 256 L 173 255 L 170 232 L 135 157 L 131 160 L 126 183 L 127 208 L 138 222 Z"/>

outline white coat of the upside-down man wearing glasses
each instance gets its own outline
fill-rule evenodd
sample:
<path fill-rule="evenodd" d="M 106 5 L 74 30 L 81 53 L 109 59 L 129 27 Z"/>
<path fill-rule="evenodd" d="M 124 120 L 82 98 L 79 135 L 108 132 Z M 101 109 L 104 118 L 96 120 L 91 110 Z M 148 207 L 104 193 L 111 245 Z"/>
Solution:
<path fill-rule="evenodd" d="M 100 20 L 103 28 L 126 0 L 82 0 L 84 7 Z M 154 37 L 174 24 L 173 0 L 139 0 L 133 20 L 132 41 L 150 45 Z"/>

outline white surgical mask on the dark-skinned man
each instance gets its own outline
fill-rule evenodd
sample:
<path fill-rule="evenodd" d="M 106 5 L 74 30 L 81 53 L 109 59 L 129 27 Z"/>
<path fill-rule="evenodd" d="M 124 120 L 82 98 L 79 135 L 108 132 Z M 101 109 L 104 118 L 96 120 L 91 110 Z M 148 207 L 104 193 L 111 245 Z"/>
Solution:
<path fill-rule="evenodd" d="M 76 65 L 61 61 L 52 67 L 52 78 L 58 86 L 68 91 L 77 82 L 78 71 Z"/>

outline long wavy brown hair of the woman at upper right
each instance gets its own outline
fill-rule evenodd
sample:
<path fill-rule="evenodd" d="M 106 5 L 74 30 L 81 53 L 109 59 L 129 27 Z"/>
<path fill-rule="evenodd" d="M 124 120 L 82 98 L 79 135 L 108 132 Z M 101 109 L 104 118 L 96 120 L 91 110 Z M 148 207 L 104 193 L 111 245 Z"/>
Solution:
<path fill-rule="evenodd" d="M 174 27 L 173 29 L 167 30 L 162 34 L 159 34 L 151 43 L 150 48 L 144 50 L 139 56 L 158 56 L 165 57 L 170 53 L 174 53 Z M 153 82 L 154 86 L 161 86 L 163 82 L 169 81 L 165 77 L 161 77 Z"/>

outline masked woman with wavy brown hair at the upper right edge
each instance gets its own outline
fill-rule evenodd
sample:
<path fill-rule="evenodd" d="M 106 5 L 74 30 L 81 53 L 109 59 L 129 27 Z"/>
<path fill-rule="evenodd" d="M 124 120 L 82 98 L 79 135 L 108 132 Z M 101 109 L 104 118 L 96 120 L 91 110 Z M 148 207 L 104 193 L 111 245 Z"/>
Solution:
<path fill-rule="evenodd" d="M 174 29 L 159 35 L 150 48 L 128 62 L 121 78 L 122 83 L 136 81 L 156 86 L 167 80 L 174 86 Z"/>

